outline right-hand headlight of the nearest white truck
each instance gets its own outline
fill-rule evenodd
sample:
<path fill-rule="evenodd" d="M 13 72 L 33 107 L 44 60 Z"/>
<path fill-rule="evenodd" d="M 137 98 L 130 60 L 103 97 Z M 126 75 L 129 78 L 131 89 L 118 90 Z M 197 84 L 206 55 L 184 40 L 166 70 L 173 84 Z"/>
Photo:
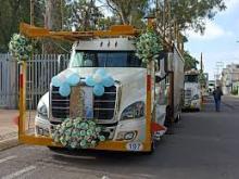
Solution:
<path fill-rule="evenodd" d="M 144 116 L 144 103 L 142 101 L 135 102 L 127 106 L 121 116 L 121 120 L 140 118 Z"/>

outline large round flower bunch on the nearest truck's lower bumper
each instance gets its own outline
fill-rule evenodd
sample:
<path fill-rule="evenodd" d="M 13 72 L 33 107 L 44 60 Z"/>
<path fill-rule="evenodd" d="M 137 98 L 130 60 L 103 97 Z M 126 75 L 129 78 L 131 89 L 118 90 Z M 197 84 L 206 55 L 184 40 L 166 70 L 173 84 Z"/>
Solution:
<path fill-rule="evenodd" d="M 72 149 L 95 148 L 99 142 L 105 141 L 102 127 L 93 120 L 84 120 L 80 117 L 67 118 L 58 125 L 52 138 L 54 142 Z"/>

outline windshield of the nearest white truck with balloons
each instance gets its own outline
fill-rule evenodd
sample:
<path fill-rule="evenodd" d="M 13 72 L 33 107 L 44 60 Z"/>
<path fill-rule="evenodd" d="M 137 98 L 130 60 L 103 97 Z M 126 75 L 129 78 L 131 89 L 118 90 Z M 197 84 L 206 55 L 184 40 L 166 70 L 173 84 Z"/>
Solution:
<path fill-rule="evenodd" d="M 70 67 L 142 67 L 134 51 L 75 51 Z"/>

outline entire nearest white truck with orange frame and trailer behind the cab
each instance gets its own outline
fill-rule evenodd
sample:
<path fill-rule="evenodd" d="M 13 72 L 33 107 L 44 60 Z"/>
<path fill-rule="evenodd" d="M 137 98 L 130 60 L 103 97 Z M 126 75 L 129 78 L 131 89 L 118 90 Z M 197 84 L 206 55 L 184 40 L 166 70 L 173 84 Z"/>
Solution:
<path fill-rule="evenodd" d="M 21 29 L 28 37 L 74 41 L 68 67 L 52 78 L 38 103 L 35 136 L 23 131 L 23 143 L 59 146 L 52 141 L 58 126 L 66 118 L 80 117 L 102 127 L 105 141 L 96 150 L 152 152 L 166 124 L 180 116 L 184 59 L 174 44 L 160 52 L 149 71 L 136 55 L 139 30 L 133 26 L 78 34 L 51 33 L 26 24 Z M 72 82 L 77 76 L 79 80 L 68 88 L 64 80 Z M 104 77 L 108 80 L 102 81 Z"/>

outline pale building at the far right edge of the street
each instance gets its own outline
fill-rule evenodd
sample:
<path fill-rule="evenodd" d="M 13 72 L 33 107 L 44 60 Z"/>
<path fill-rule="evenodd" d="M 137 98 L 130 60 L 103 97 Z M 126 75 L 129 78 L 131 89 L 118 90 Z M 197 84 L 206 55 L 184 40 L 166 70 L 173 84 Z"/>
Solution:
<path fill-rule="evenodd" d="M 229 64 L 222 72 L 222 89 L 225 94 L 238 91 L 239 88 L 239 64 Z"/>

